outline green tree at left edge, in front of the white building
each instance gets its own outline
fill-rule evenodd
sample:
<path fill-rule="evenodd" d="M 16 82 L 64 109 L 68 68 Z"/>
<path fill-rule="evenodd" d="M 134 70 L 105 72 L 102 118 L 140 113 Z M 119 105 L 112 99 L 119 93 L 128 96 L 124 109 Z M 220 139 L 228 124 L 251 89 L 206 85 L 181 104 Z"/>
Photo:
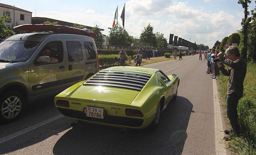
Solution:
<path fill-rule="evenodd" d="M 14 31 L 9 30 L 9 28 L 5 25 L 5 21 L 8 20 L 10 20 L 9 16 L 0 16 L 0 37 L 2 39 L 15 34 Z"/>

